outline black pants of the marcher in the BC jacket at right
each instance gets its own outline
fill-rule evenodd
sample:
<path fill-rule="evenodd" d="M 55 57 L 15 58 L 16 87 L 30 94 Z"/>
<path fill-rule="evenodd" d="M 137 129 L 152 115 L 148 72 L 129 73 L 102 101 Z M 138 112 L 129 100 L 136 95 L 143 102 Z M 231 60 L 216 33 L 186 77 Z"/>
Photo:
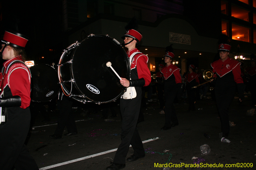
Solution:
<path fill-rule="evenodd" d="M 229 86 L 228 88 L 215 87 L 216 103 L 221 122 L 221 132 L 225 136 L 228 136 L 229 134 L 228 108 L 234 99 L 235 88 L 235 86 Z"/>

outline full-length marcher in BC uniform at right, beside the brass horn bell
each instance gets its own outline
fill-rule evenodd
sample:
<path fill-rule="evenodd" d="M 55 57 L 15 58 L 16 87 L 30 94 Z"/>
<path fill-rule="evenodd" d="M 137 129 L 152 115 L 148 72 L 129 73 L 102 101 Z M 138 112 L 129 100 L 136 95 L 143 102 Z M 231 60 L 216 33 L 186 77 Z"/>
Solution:
<path fill-rule="evenodd" d="M 228 39 L 228 37 L 227 37 Z M 240 64 L 238 61 L 229 58 L 231 45 L 226 40 L 219 41 L 220 59 L 211 63 L 213 73 L 216 73 L 215 97 L 220 115 L 221 132 L 220 137 L 228 137 L 229 118 L 228 108 L 234 99 L 236 86 L 239 93 L 239 100 L 244 100 L 244 84 L 241 78 Z"/>

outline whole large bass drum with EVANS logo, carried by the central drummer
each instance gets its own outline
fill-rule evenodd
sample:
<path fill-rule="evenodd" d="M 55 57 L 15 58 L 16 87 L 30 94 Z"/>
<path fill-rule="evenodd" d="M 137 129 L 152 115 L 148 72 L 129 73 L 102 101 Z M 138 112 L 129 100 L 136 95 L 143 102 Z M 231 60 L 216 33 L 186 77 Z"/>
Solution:
<path fill-rule="evenodd" d="M 122 78 L 130 79 L 130 61 L 124 48 L 108 35 L 93 35 L 71 44 L 60 57 L 58 77 L 65 95 L 82 103 L 115 101 L 126 87 L 106 66 Z"/>

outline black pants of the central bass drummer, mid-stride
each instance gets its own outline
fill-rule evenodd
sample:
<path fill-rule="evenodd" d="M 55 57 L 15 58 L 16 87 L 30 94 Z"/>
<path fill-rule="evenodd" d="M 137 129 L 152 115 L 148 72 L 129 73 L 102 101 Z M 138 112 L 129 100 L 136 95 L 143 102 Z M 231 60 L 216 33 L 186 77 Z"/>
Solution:
<path fill-rule="evenodd" d="M 114 163 L 125 164 L 125 157 L 129 150 L 130 144 L 134 150 L 135 156 L 143 156 L 145 154 L 143 144 L 140 139 L 138 129 L 136 127 L 141 104 L 141 91 L 136 90 L 137 97 L 134 99 L 120 99 L 120 110 L 122 115 L 122 142 L 118 146 Z"/>

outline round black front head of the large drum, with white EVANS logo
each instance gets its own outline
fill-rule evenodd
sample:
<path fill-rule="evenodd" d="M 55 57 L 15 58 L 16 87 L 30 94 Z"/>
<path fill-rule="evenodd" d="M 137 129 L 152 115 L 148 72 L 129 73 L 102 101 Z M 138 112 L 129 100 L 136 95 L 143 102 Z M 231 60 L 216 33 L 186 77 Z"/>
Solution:
<path fill-rule="evenodd" d="M 111 37 L 94 35 L 82 41 L 72 55 L 71 77 L 76 89 L 96 103 L 110 102 L 120 97 L 125 87 L 120 84 L 107 62 L 122 78 L 130 79 L 128 56 Z"/>

